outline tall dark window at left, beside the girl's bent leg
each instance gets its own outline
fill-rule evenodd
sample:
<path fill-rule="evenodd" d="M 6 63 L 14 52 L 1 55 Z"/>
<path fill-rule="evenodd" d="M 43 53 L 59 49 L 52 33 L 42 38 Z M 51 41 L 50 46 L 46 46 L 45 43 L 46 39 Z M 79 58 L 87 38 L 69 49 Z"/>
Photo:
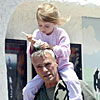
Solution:
<path fill-rule="evenodd" d="M 9 100 L 23 100 L 22 89 L 27 83 L 25 40 L 5 40 Z"/>

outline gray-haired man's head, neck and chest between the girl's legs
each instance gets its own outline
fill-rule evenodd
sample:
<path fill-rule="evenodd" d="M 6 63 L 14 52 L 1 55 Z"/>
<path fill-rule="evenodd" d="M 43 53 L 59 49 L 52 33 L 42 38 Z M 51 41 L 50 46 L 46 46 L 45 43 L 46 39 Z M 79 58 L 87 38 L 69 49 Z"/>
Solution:
<path fill-rule="evenodd" d="M 53 51 L 40 50 L 31 57 L 35 71 L 44 81 L 35 100 L 68 100 L 67 86 L 59 76 L 58 63 Z"/>

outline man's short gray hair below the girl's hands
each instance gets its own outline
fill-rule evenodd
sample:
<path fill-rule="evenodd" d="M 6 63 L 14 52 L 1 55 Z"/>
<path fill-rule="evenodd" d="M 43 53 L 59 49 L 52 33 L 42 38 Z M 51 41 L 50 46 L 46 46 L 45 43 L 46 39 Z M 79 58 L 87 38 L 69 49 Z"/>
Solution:
<path fill-rule="evenodd" d="M 34 53 L 31 55 L 31 59 L 32 59 L 33 57 L 43 57 L 43 55 L 44 55 L 45 53 L 49 53 L 54 59 L 56 59 L 56 58 L 55 58 L 54 52 L 53 52 L 52 50 L 50 50 L 50 49 L 39 50 L 39 51 L 34 52 Z"/>

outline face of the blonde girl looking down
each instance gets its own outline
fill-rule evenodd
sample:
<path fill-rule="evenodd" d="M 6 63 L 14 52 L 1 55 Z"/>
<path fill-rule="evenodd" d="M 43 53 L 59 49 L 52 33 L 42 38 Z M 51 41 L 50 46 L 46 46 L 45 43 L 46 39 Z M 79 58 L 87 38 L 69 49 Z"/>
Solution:
<path fill-rule="evenodd" d="M 50 35 L 53 32 L 55 25 L 54 23 L 38 20 L 39 30 L 46 35 Z"/>

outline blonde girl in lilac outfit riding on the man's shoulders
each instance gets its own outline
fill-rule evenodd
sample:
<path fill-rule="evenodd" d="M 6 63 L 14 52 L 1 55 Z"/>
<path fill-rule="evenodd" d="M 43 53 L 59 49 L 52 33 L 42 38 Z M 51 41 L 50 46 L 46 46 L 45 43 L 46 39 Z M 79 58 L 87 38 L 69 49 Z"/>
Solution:
<path fill-rule="evenodd" d="M 37 22 L 39 29 L 32 35 L 27 35 L 30 45 L 28 54 L 31 55 L 34 50 L 34 39 L 41 40 L 40 46 L 43 49 L 51 48 L 58 59 L 58 71 L 61 78 L 66 83 L 69 91 L 69 100 L 82 100 L 81 88 L 77 75 L 74 72 L 73 64 L 69 62 L 70 40 L 67 32 L 58 28 L 57 25 L 65 23 L 61 18 L 57 8 L 51 3 L 43 3 L 38 6 Z M 34 100 L 35 94 L 43 84 L 43 80 L 36 75 L 23 89 L 24 100 Z"/>

